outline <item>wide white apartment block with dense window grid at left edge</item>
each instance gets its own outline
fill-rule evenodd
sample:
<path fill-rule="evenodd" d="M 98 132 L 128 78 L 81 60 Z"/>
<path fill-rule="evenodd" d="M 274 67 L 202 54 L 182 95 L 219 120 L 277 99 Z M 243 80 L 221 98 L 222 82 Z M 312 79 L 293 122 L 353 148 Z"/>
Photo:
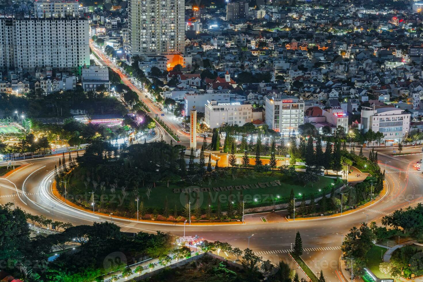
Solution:
<path fill-rule="evenodd" d="M 46 66 L 76 70 L 90 64 L 88 20 L 0 18 L 0 69 Z"/>

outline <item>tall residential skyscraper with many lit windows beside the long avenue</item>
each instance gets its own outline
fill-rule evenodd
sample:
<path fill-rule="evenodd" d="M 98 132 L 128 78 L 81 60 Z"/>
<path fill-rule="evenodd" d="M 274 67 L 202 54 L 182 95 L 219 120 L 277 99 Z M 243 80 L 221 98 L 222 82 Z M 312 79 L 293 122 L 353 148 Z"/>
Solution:
<path fill-rule="evenodd" d="M 128 0 L 128 53 L 184 52 L 184 0 Z"/>

